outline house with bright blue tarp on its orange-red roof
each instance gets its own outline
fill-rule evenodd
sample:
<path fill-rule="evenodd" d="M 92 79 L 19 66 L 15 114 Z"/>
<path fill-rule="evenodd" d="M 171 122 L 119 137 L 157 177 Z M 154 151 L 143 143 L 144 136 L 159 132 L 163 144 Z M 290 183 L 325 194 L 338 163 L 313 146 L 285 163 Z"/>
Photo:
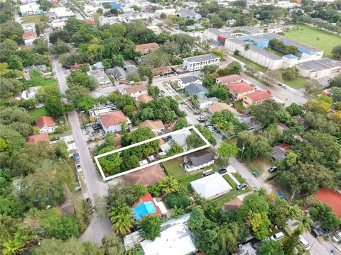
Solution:
<path fill-rule="evenodd" d="M 133 214 L 135 220 L 139 221 L 144 216 L 161 215 L 162 212 L 151 197 L 151 193 L 146 193 L 146 195 L 141 196 L 139 202 L 134 206 Z"/>

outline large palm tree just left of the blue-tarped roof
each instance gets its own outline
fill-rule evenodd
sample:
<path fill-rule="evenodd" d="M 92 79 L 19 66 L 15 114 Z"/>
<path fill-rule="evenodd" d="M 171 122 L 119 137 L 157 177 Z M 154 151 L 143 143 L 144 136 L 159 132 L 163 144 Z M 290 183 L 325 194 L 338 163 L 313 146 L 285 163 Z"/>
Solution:
<path fill-rule="evenodd" d="M 109 208 L 108 215 L 117 234 L 129 234 L 130 229 L 134 227 L 133 212 L 128 205 L 117 204 L 115 208 Z"/>

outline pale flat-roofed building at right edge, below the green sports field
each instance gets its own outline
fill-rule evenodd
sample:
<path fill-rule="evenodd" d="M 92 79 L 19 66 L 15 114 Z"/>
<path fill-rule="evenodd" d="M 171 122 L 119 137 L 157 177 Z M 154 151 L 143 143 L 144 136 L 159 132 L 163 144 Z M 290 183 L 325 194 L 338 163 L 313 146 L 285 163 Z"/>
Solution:
<path fill-rule="evenodd" d="M 311 60 L 303 64 L 298 64 L 297 68 L 301 77 L 319 79 L 341 72 L 341 62 L 323 58 L 321 60 Z"/>

